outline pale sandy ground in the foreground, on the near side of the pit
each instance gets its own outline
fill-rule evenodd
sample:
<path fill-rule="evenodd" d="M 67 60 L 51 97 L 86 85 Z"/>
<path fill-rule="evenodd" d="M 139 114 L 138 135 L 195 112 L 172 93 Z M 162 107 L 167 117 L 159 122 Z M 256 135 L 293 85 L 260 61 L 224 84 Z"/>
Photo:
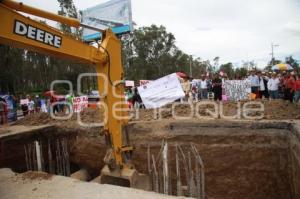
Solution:
<path fill-rule="evenodd" d="M 1 199 L 168 199 L 174 198 L 153 192 L 82 182 L 62 176 L 46 173 L 13 173 L 9 169 L 0 169 Z"/>

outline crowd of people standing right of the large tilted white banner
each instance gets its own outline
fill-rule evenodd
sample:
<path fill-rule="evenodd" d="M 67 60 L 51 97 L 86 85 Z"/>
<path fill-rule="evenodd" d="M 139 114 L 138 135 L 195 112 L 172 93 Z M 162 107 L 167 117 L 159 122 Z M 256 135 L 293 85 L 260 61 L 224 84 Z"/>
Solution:
<path fill-rule="evenodd" d="M 184 100 L 195 101 L 214 99 L 221 101 L 225 95 L 224 81 L 229 80 L 225 73 L 202 75 L 197 81 L 182 77 L 181 85 L 185 93 Z M 284 99 L 290 102 L 300 100 L 300 76 L 295 72 L 266 72 L 251 70 L 249 75 L 235 80 L 248 80 L 254 99 Z"/>

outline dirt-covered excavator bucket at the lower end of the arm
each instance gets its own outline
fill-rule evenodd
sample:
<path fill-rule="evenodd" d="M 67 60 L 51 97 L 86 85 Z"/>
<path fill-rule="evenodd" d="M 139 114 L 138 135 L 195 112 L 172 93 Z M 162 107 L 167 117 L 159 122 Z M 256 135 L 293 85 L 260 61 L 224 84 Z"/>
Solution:
<path fill-rule="evenodd" d="M 151 190 L 149 176 L 140 174 L 137 170 L 130 168 L 111 171 L 107 165 L 101 170 L 100 184 Z"/>

